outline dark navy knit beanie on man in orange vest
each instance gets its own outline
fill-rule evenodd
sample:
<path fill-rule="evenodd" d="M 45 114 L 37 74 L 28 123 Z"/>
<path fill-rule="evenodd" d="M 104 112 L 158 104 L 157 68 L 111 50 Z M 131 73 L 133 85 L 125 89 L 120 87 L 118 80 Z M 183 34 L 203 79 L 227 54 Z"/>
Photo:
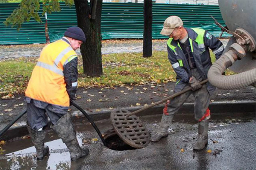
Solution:
<path fill-rule="evenodd" d="M 64 33 L 64 36 L 74 38 L 76 40 L 80 40 L 85 42 L 85 34 L 83 30 L 79 27 L 69 27 Z"/>

